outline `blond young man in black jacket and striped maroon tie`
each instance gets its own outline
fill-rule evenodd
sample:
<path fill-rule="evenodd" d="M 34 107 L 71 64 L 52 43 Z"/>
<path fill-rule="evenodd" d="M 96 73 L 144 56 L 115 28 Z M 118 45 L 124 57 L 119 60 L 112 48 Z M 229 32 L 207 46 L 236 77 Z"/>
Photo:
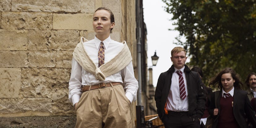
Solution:
<path fill-rule="evenodd" d="M 156 85 L 157 113 L 165 128 L 198 128 L 206 100 L 202 80 L 185 65 L 184 48 L 173 48 L 171 55 L 173 65 Z"/>

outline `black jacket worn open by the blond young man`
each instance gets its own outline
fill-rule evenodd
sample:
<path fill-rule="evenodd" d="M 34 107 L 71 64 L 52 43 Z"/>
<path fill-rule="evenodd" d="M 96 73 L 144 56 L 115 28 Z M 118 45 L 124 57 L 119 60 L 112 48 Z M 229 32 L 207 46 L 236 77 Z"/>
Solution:
<path fill-rule="evenodd" d="M 157 113 L 162 119 L 164 117 L 164 105 L 167 101 L 169 90 L 172 83 L 172 75 L 174 66 L 160 74 L 155 91 L 155 100 Z M 205 109 L 206 95 L 203 93 L 203 83 L 197 72 L 191 71 L 185 65 L 184 72 L 186 74 L 188 100 L 189 100 L 189 116 L 201 118 Z"/>

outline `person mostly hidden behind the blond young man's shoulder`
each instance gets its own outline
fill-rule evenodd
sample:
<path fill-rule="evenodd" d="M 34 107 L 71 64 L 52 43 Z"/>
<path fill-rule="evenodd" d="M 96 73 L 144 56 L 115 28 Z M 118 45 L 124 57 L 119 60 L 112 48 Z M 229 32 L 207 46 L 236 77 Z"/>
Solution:
<path fill-rule="evenodd" d="M 201 68 L 193 67 L 191 70 L 197 72 L 200 75 L 201 79 L 203 79 L 203 70 Z M 206 87 L 204 84 L 203 84 L 203 89 L 206 94 L 206 103 L 205 103 L 205 110 L 203 112 L 203 116 L 201 117 L 200 128 L 205 127 L 207 117 L 209 116 L 208 108 L 210 106 L 211 93 L 212 93 L 212 89 L 210 87 Z"/>

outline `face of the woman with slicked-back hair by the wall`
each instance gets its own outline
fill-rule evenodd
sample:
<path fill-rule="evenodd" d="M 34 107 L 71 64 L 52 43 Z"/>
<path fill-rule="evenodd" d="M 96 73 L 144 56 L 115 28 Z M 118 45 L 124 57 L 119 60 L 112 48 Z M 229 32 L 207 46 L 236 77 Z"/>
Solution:
<path fill-rule="evenodd" d="M 105 35 L 110 33 L 110 29 L 115 23 L 110 22 L 110 13 L 107 10 L 98 10 L 93 15 L 93 29 L 96 35 Z"/>

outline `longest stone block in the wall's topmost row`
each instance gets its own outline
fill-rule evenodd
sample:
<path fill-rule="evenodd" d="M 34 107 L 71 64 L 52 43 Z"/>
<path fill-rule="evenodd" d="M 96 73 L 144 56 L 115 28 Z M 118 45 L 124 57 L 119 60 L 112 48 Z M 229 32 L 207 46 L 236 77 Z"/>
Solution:
<path fill-rule="evenodd" d="M 12 0 L 12 11 L 80 12 L 81 0 Z"/>

